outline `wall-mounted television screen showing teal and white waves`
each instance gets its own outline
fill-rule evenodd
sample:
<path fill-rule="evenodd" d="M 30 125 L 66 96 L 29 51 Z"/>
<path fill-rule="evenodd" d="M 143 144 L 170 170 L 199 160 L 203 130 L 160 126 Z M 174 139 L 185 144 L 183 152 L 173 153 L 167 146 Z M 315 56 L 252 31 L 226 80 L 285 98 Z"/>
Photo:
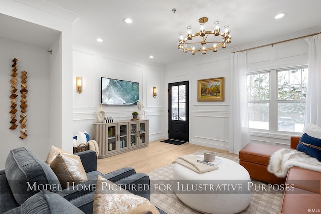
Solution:
<path fill-rule="evenodd" d="M 137 105 L 139 101 L 139 83 L 101 78 L 102 105 Z"/>

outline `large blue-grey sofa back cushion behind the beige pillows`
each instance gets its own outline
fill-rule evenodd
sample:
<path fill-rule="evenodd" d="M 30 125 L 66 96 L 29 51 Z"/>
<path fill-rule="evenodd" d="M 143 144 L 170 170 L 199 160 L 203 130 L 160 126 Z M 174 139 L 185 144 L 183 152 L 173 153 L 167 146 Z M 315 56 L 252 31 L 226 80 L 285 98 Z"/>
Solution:
<path fill-rule="evenodd" d="M 51 168 L 25 147 L 13 149 L 5 163 L 6 178 L 18 205 L 44 189 L 56 192 L 60 182 Z"/>

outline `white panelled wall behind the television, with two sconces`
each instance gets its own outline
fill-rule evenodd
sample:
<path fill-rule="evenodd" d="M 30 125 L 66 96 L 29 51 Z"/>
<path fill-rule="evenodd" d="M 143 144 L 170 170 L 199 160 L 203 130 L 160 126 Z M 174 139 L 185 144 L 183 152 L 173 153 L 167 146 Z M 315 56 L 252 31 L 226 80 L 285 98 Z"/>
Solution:
<path fill-rule="evenodd" d="M 76 92 L 76 77 L 83 78 L 83 92 Z M 139 82 L 140 101 L 149 119 L 150 141 L 163 138 L 162 77 L 163 69 L 137 62 L 131 57 L 101 53 L 82 47 L 73 51 L 73 134 L 87 131 L 92 134 L 92 123 L 101 103 L 101 77 Z M 157 87 L 157 97 L 152 94 Z M 136 106 L 103 106 L 106 117 L 114 121 L 130 120 Z"/>

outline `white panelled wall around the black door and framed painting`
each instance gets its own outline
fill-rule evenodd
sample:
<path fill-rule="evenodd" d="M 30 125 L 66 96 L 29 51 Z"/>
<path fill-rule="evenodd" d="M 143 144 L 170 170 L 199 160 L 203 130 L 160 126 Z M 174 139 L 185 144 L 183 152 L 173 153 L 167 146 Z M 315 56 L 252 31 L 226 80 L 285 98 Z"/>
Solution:
<path fill-rule="evenodd" d="M 213 55 L 209 53 L 209 55 Z M 213 148 L 228 150 L 228 115 L 229 115 L 229 93 L 230 93 L 230 58 L 229 54 L 217 55 L 215 57 L 196 56 L 196 59 L 179 65 L 166 68 L 164 73 L 164 93 L 167 94 L 168 83 L 178 81 L 189 81 L 189 142 Z M 224 102 L 198 102 L 197 81 L 215 77 L 224 77 L 225 101 Z M 164 101 L 164 132 L 168 136 L 167 95 Z"/>

